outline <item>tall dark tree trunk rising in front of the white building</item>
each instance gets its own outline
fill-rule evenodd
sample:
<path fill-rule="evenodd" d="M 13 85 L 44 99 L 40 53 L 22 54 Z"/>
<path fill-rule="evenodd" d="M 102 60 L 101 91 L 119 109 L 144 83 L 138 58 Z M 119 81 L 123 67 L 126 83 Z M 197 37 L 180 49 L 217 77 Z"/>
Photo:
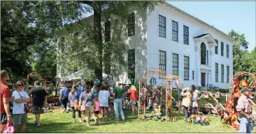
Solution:
<path fill-rule="evenodd" d="M 102 80 L 102 35 L 101 35 L 101 1 L 94 1 L 94 42 L 98 49 L 99 64 L 94 69 L 94 74 Z"/>

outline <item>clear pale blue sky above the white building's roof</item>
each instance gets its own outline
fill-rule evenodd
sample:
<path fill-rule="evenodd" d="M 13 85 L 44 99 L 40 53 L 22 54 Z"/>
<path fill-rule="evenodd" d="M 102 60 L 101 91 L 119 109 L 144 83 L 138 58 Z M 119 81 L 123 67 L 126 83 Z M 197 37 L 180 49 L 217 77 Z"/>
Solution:
<path fill-rule="evenodd" d="M 248 50 L 256 47 L 255 1 L 166 1 L 224 33 L 243 33 Z"/>

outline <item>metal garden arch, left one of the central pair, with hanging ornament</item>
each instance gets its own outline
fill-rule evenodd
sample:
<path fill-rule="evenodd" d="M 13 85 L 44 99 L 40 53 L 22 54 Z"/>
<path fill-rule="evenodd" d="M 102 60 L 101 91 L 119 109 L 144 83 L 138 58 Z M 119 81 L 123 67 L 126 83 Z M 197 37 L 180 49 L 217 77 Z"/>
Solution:
<path fill-rule="evenodd" d="M 166 74 L 166 72 L 162 69 L 158 68 L 150 68 L 148 69 L 148 72 L 145 72 L 144 76 L 139 78 L 138 80 L 138 118 L 140 118 L 140 108 L 141 108 L 141 101 L 145 99 L 145 92 L 141 92 L 141 87 L 145 87 L 147 85 L 148 78 L 150 78 L 150 85 L 156 85 L 157 79 L 154 77 L 156 74 L 159 75 L 159 78 L 163 78 Z M 143 117 L 145 117 L 145 103 L 143 105 Z"/>

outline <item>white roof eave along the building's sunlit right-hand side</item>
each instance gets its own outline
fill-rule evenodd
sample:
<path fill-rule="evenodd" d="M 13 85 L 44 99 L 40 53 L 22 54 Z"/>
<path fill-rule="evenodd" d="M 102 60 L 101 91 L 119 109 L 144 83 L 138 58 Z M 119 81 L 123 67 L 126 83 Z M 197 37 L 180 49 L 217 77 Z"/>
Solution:
<path fill-rule="evenodd" d="M 204 25 L 208 26 L 209 28 L 212 28 L 213 30 L 217 31 L 218 33 L 221 33 L 222 35 L 225 35 L 226 37 L 229 38 L 229 40 L 232 40 L 232 41 L 234 40 L 232 37 L 230 37 L 229 35 L 227 35 L 226 33 L 222 32 L 222 31 L 220 31 L 218 28 L 215 28 L 215 27 L 207 24 L 206 22 L 202 21 L 201 19 L 198 19 L 197 17 L 194 17 L 194 16 L 188 14 L 187 12 L 184 12 L 183 10 L 180 10 L 179 8 L 176 8 L 175 6 L 171 5 L 170 3 L 167 3 L 166 1 L 164 1 L 164 4 L 166 6 L 169 6 L 170 8 L 173 8 L 174 10 L 177 10 L 178 12 L 181 12 L 182 14 L 184 14 L 187 17 L 190 17 L 191 19 L 194 19 L 195 21 L 197 21 L 201 24 L 204 24 Z"/>

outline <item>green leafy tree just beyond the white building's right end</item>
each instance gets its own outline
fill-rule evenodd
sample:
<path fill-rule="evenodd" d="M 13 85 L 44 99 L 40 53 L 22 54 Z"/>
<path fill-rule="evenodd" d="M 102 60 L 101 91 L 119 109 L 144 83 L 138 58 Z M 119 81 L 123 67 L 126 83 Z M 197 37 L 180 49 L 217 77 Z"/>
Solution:
<path fill-rule="evenodd" d="M 234 39 L 233 41 L 233 74 L 237 72 L 248 72 L 250 66 L 248 60 L 248 42 L 243 34 L 239 34 L 232 30 L 229 35 Z"/>

